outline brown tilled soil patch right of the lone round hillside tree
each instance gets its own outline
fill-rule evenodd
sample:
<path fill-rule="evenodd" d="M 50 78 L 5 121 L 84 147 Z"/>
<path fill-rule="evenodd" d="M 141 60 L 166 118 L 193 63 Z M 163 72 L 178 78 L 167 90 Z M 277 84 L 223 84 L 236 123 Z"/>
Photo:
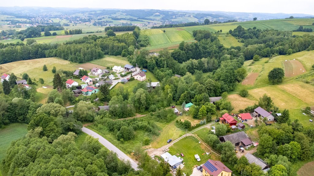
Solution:
<path fill-rule="evenodd" d="M 305 73 L 306 70 L 298 60 L 284 61 L 284 76 L 293 77 Z"/>

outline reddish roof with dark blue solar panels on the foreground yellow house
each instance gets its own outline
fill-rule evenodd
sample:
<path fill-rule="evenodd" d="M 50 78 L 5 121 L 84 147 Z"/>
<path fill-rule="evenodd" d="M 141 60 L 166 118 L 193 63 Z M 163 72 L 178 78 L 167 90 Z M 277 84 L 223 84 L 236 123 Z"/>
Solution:
<path fill-rule="evenodd" d="M 203 169 L 209 173 L 209 175 L 218 176 L 222 171 L 232 172 L 225 164 L 220 161 L 214 161 L 208 159 L 206 163 L 203 164 Z"/>

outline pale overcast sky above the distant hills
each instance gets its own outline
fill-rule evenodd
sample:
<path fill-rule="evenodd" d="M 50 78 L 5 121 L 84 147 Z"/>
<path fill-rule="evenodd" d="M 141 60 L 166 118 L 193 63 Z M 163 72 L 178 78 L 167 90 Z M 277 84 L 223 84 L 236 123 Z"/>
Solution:
<path fill-rule="evenodd" d="M 172 9 L 225 12 L 305 13 L 314 15 L 313 0 L 10 0 L 0 6 L 71 8 Z"/>

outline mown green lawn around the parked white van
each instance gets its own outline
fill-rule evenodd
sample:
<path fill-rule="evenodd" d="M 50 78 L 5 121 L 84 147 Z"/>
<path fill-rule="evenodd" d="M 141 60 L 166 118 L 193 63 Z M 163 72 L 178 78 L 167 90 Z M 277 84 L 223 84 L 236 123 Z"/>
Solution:
<path fill-rule="evenodd" d="M 181 157 L 181 153 L 184 154 L 183 163 L 184 167 L 182 171 L 184 173 L 192 173 L 192 170 L 195 166 L 199 166 L 200 164 L 205 163 L 208 159 L 210 159 L 210 155 L 207 155 L 206 152 L 208 150 L 205 149 L 202 144 L 198 143 L 198 139 L 192 136 L 188 136 L 186 138 L 181 139 L 180 141 L 173 144 L 169 147 L 169 153 L 171 155 L 176 155 Z M 204 155 L 202 155 L 205 153 Z M 201 161 L 197 161 L 194 157 L 195 154 L 198 154 Z"/>

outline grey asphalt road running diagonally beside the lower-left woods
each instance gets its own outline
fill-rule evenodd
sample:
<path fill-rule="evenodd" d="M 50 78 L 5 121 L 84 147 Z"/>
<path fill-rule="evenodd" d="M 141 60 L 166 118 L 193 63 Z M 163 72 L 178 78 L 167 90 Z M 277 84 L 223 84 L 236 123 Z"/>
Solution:
<path fill-rule="evenodd" d="M 128 157 L 125 153 L 123 153 L 121 150 L 119 150 L 118 148 L 116 148 L 116 146 L 114 146 L 112 143 L 110 143 L 109 141 L 107 141 L 105 138 L 103 138 L 102 136 L 100 136 L 98 133 L 94 132 L 93 130 L 90 130 L 86 127 L 82 128 L 82 131 L 94 138 L 98 138 L 98 141 L 104 145 L 106 148 L 108 148 L 109 150 L 115 152 L 118 155 L 119 159 L 124 159 L 124 160 L 129 160 L 131 163 L 132 168 L 134 168 L 135 170 L 138 170 L 138 164 L 134 162 L 133 159 L 131 159 L 130 157 Z"/>

